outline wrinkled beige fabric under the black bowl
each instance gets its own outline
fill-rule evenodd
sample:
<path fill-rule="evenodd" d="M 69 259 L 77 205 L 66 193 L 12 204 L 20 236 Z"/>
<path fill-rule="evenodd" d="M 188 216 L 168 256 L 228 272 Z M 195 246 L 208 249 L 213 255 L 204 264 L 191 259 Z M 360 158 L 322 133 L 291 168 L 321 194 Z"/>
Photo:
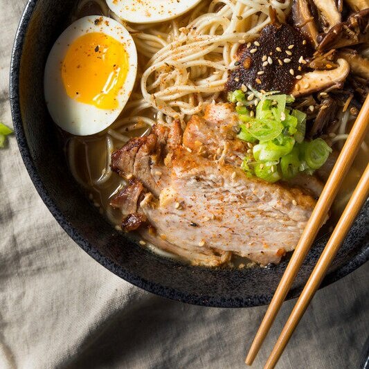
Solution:
<path fill-rule="evenodd" d="M 0 120 L 11 124 L 10 49 L 25 0 L 0 0 Z M 369 334 L 369 264 L 318 292 L 278 368 L 357 368 Z M 254 368 L 262 368 L 293 302 Z M 0 368 L 244 368 L 265 307 L 209 309 L 111 274 L 39 199 L 15 137 L 0 150 Z"/>

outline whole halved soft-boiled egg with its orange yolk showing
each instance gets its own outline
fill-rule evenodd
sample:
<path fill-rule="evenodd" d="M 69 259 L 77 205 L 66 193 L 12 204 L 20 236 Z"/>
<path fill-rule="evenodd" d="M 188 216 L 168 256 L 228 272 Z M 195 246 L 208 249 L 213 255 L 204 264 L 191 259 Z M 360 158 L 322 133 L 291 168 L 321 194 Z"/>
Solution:
<path fill-rule="evenodd" d="M 48 111 L 71 134 L 101 132 L 125 107 L 136 73 L 136 46 L 124 26 L 107 17 L 78 19 L 48 55 L 44 74 Z"/>

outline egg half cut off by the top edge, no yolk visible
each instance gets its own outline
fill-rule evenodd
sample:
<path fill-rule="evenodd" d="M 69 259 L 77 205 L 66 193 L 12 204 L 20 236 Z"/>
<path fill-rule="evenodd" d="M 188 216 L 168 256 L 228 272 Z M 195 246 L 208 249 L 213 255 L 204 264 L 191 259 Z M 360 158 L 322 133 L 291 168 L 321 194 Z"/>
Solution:
<path fill-rule="evenodd" d="M 131 23 L 168 21 L 194 8 L 201 0 L 107 0 L 109 8 Z"/>

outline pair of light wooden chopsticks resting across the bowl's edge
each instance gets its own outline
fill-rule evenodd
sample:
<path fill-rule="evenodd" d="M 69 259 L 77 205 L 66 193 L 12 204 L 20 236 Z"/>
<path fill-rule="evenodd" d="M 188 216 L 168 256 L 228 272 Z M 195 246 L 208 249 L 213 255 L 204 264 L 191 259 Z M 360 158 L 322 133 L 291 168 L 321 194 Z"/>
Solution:
<path fill-rule="evenodd" d="M 369 127 L 369 96 L 363 104 L 363 107 L 357 116 L 357 120 L 351 129 L 351 132 L 341 150 L 341 154 L 336 161 L 336 165 L 330 174 L 321 197 L 319 197 L 316 206 L 312 212 L 305 230 L 300 237 L 300 241 L 296 246 L 294 253 L 291 256 L 291 260 L 287 265 L 286 271 L 280 280 L 280 283 L 276 289 L 276 292 L 271 300 L 271 303 L 267 309 L 259 330 L 253 340 L 249 354 L 246 357 L 246 364 L 251 365 L 258 354 L 260 347 L 267 336 L 271 325 L 273 324 L 276 315 L 285 300 L 289 289 L 291 288 L 294 279 L 298 273 L 298 270 L 303 264 L 305 257 L 314 242 L 316 235 L 318 234 L 321 225 L 325 221 L 330 207 L 339 191 L 341 183 L 345 178 L 345 175 L 351 168 L 354 158 L 357 156 L 357 152 L 363 143 L 366 136 L 366 132 Z M 264 369 L 271 369 L 276 366 L 278 359 L 282 355 L 291 335 L 293 334 L 300 318 L 302 318 L 307 306 L 309 305 L 314 293 L 318 289 L 319 285 L 327 273 L 327 269 L 330 267 L 336 253 L 339 251 L 341 243 L 345 239 L 352 222 L 359 213 L 361 206 L 366 201 L 369 194 L 369 165 L 366 167 L 363 176 L 361 177 L 357 188 L 354 190 L 352 197 L 346 206 L 339 222 L 336 224 L 334 231 L 327 242 L 321 257 L 319 258 L 312 275 L 310 276 L 303 292 L 298 298 L 298 301 L 289 316 L 289 319 L 280 334 L 276 345 L 274 346 L 271 355 L 264 366 Z"/>

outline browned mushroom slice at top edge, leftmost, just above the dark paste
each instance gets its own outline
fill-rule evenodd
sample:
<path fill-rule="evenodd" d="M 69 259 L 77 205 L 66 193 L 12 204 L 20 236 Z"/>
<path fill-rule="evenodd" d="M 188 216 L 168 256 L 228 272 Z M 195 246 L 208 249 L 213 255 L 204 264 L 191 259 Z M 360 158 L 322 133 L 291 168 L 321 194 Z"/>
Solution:
<path fill-rule="evenodd" d="M 292 5 L 292 19 L 294 26 L 300 29 L 301 33 L 309 39 L 311 44 L 316 48 L 318 46 L 318 29 L 314 22 L 312 12 L 309 10 L 307 0 L 295 0 Z"/>

